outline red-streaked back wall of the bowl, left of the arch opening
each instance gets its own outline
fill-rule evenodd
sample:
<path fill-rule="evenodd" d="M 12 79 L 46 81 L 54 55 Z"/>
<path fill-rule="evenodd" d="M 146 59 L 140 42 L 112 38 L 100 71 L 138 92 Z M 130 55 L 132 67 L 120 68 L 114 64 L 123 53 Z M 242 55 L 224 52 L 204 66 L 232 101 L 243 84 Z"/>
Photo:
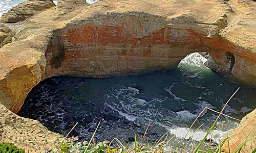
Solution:
<path fill-rule="evenodd" d="M 174 68 L 187 54 L 205 49 L 193 30 L 166 23 L 163 17 L 135 12 L 68 24 L 52 39 L 46 73 L 97 78 L 145 73 Z M 55 44 L 56 39 L 61 42 Z"/>

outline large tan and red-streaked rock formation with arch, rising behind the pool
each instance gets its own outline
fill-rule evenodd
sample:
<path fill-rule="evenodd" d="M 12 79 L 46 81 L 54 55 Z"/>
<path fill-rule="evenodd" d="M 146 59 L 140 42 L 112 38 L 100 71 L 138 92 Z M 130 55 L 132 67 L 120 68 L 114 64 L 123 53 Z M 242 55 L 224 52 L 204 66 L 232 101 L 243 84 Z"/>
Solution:
<path fill-rule="evenodd" d="M 255 87 L 255 9 L 251 0 L 104 0 L 93 5 L 77 0 L 56 7 L 50 1 L 22 3 L 1 19 L 22 21 L 22 34 L 0 49 L 0 103 L 17 113 L 45 78 L 170 69 L 194 52 L 209 53 L 224 77 Z M 240 127 L 245 124 L 247 120 Z M 243 127 L 245 135 L 251 131 Z M 242 142 L 245 135 L 233 139 Z"/>

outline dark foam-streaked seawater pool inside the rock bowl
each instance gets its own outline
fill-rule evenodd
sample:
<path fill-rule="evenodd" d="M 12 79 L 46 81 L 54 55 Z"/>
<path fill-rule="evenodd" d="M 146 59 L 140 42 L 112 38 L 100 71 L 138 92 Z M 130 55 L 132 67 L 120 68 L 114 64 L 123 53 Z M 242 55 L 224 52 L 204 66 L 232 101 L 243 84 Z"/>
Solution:
<path fill-rule="evenodd" d="M 224 114 L 241 119 L 255 109 L 255 89 L 231 84 L 203 65 L 198 53 L 190 54 L 176 69 L 138 76 L 87 79 L 54 77 L 33 88 L 18 115 L 39 120 L 49 130 L 89 140 L 99 121 L 96 140 L 115 137 L 127 141 L 133 130 L 143 135 L 151 124 L 147 139 L 155 141 L 166 131 L 175 134 L 172 143 L 185 135 L 190 124 L 205 108 L 220 111 L 230 95 L 241 90 L 230 101 Z M 192 131 L 204 123 L 193 136 L 200 140 L 217 117 L 205 111 Z M 214 140 L 238 125 L 222 116 Z M 133 129 L 133 130 L 131 130 Z"/>

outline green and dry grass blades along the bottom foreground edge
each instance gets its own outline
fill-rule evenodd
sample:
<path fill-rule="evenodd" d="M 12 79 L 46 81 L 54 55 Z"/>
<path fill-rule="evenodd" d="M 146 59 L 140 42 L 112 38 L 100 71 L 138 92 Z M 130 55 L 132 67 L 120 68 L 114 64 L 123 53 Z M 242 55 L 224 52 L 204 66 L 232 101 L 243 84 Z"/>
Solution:
<path fill-rule="evenodd" d="M 214 130 L 218 130 L 215 126 L 216 126 L 216 123 L 217 121 L 219 120 L 220 116 L 221 115 L 225 115 L 223 114 L 223 111 L 225 109 L 225 107 L 227 106 L 227 104 L 229 103 L 229 101 L 231 100 L 231 98 L 239 91 L 239 88 L 232 94 L 232 96 L 227 100 L 226 104 L 224 105 L 224 107 L 222 108 L 221 112 L 217 112 L 215 110 L 212 110 L 214 112 L 217 112 L 219 115 L 217 117 L 217 119 L 215 120 L 215 122 L 211 125 L 211 127 L 209 128 L 209 130 L 207 131 L 206 135 L 204 136 L 204 138 L 200 141 L 200 143 L 194 147 L 194 143 L 192 145 L 192 147 L 190 147 L 188 149 L 188 145 L 189 145 L 189 142 L 191 140 L 191 138 L 185 143 L 185 146 L 183 146 L 183 143 L 184 143 L 184 140 L 188 134 L 188 132 L 191 130 L 191 128 L 193 127 L 193 125 L 195 124 L 195 122 L 198 120 L 198 118 L 201 116 L 201 114 L 206 110 L 206 109 L 209 109 L 209 108 L 205 108 L 198 116 L 197 118 L 195 119 L 195 121 L 193 122 L 193 124 L 191 124 L 189 130 L 187 131 L 186 135 L 184 136 L 184 138 L 181 140 L 179 146 L 177 148 L 173 148 L 173 147 L 170 147 L 168 146 L 168 143 L 174 138 L 174 135 L 173 136 L 170 136 L 169 137 L 169 133 L 165 133 L 159 140 L 157 140 L 154 144 L 150 144 L 147 140 L 145 140 L 145 135 L 147 133 L 147 130 L 148 130 L 148 127 L 150 125 L 147 126 L 146 130 L 145 130 L 145 133 L 143 135 L 143 137 L 138 140 L 138 137 L 137 135 L 135 134 L 134 136 L 134 139 L 135 139 L 135 142 L 134 143 L 128 143 L 126 145 L 124 145 L 123 143 L 121 143 L 120 140 L 118 140 L 117 138 L 114 138 L 111 142 L 109 141 L 103 141 L 103 142 L 98 142 L 96 143 L 94 141 L 94 137 L 95 137 L 95 134 L 96 134 L 96 131 L 100 125 L 100 122 L 99 124 L 97 125 L 96 127 L 96 130 L 95 132 L 93 133 L 91 139 L 89 142 L 87 141 L 84 141 L 84 142 L 77 142 L 78 140 L 78 137 L 72 137 L 72 138 L 69 138 L 68 140 L 63 140 L 60 145 L 58 146 L 57 149 L 54 150 L 55 153 L 69 153 L 69 152 L 78 152 L 78 153 L 103 153 L 103 152 L 106 152 L 106 153 L 164 153 L 164 152 L 176 152 L 176 153 L 183 153 L 183 152 L 206 152 L 206 153 L 212 153 L 212 152 L 215 152 L 215 153 L 219 153 L 221 152 L 222 150 L 222 147 L 225 143 L 228 143 L 228 146 L 229 146 L 229 139 L 230 137 L 227 136 L 227 138 L 225 138 L 224 140 L 220 141 L 219 145 L 218 146 L 215 146 L 215 147 L 210 147 L 210 143 L 208 143 L 208 147 L 207 149 L 201 149 L 201 147 L 203 146 L 203 144 L 206 144 L 206 138 L 208 135 L 210 135 L 211 132 L 213 132 Z M 211 110 L 211 109 L 209 109 Z M 227 116 L 227 115 L 225 115 Z M 230 116 L 227 116 L 227 117 L 230 117 Z M 230 117 L 232 118 L 232 117 Z M 234 119 L 234 118 L 233 118 Z M 77 125 L 77 124 L 76 124 Z M 75 125 L 75 126 L 76 126 Z M 74 126 L 74 127 L 75 127 Z M 198 127 L 198 129 L 195 131 L 197 132 L 200 127 L 203 126 L 200 125 Z M 74 129 L 74 127 L 72 128 L 72 130 Z M 71 131 L 72 131 L 71 130 Z M 251 130 L 251 132 L 253 131 L 254 129 Z M 251 133 L 250 132 L 250 133 Z M 250 134 L 249 133 L 249 134 Z M 70 133 L 69 133 L 70 134 Z M 69 135 L 68 134 L 68 135 Z M 66 136 L 66 138 L 68 137 L 68 135 Z M 211 135 L 212 137 L 212 135 Z M 256 136 L 253 136 L 253 137 L 250 137 L 248 138 L 247 136 L 247 139 L 241 143 L 239 146 L 237 146 L 237 149 L 234 150 L 233 152 L 234 153 L 238 153 L 238 152 L 241 152 L 243 151 L 242 148 L 250 141 L 256 139 Z M 115 142 L 115 145 L 113 145 L 113 143 Z M 230 152 L 230 150 L 229 150 Z M 256 148 L 252 151 L 253 153 L 256 153 Z"/>

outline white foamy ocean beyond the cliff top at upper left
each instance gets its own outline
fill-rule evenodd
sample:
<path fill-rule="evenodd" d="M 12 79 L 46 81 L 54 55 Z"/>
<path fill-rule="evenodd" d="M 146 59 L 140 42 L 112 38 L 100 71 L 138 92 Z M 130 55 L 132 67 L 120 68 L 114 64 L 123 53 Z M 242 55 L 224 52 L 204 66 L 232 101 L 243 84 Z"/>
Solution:
<path fill-rule="evenodd" d="M 19 3 L 25 2 L 26 0 L 0 0 L 0 16 L 3 13 L 9 11 L 12 7 L 18 5 Z M 58 3 L 59 0 L 53 0 L 55 4 Z M 93 4 L 98 0 L 87 0 L 87 3 Z"/>

